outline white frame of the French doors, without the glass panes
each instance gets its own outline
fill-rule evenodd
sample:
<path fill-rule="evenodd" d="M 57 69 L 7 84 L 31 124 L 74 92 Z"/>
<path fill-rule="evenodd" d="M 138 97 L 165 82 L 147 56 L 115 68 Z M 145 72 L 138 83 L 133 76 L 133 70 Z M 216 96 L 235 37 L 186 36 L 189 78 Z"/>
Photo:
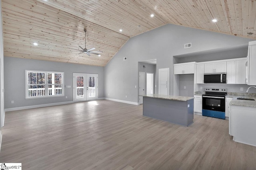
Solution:
<path fill-rule="evenodd" d="M 75 81 L 75 75 L 80 75 L 80 76 L 84 76 L 84 100 L 80 100 L 80 101 L 75 101 L 76 98 L 76 93 L 75 93 L 75 87 L 76 87 L 76 81 Z M 88 83 L 87 83 L 87 79 L 88 76 L 95 76 L 96 80 L 95 80 L 95 97 L 88 97 Z M 84 102 L 84 101 L 89 101 L 89 100 L 96 100 L 98 99 L 98 74 L 88 74 L 88 73 L 73 73 L 73 102 Z"/>

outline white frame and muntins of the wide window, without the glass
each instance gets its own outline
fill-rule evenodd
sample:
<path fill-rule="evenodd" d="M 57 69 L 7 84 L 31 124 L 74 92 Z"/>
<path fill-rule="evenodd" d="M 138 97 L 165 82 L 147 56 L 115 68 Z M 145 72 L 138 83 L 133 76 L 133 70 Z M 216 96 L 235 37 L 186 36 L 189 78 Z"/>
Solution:
<path fill-rule="evenodd" d="M 28 96 L 28 72 L 40 72 L 44 73 L 44 87 L 45 87 L 45 96 Z M 55 84 L 48 84 L 48 73 L 54 73 L 54 74 L 62 74 L 62 84 L 58 84 L 62 86 L 62 94 L 60 95 L 49 95 L 48 94 L 48 85 L 55 85 Z M 60 71 L 40 71 L 40 70 L 25 70 L 25 92 L 26 92 L 26 99 L 35 99 L 35 98 L 54 98 L 54 97 L 61 97 L 64 96 L 64 72 Z"/>

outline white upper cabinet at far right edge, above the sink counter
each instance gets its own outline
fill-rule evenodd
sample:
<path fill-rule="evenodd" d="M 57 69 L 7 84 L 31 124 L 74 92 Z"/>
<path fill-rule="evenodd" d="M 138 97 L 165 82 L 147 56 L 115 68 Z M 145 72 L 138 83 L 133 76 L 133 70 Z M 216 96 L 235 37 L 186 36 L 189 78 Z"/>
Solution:
<path fill-rule="evenodd" d="M 248 47 L 248 85 L 256 85 L 256 41 L 250 41 Z"/>

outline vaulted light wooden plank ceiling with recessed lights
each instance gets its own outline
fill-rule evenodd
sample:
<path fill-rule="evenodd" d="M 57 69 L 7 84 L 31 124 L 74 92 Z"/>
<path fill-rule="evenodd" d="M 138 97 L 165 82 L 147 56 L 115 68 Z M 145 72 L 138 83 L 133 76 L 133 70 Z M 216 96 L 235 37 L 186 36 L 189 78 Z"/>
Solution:
<path fill-rule="evenodd" d="M 256 39 L 256 0 L 2 0 L 2 16 L 4 56 L 95 66 L 167 23 Z M 100 57 L 72 52 L 84 47 L 84 28 Z"/>

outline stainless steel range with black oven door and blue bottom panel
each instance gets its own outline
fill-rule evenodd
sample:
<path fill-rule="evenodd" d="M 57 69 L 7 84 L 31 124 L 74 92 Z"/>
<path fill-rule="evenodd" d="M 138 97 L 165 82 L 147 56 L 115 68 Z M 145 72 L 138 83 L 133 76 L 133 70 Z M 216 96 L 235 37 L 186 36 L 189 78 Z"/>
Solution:
<path fill-rule="evenodd" d="M 202 115 L 225 119 L 227 88 L 205 88 L 202 95 Z"/>

